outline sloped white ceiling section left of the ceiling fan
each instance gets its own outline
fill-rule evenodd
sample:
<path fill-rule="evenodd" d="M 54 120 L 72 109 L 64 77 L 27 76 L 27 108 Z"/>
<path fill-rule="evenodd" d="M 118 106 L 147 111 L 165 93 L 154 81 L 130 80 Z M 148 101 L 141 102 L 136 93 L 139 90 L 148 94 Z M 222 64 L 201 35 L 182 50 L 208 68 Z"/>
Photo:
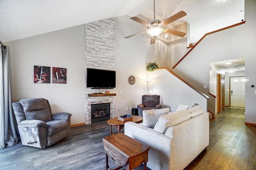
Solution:
<path fill-rule="evenodd" d="M 144 4 L 143 10 L 146 3 L 146 0 L 0 0 L 0 39 L 8 42 L 123 16 L 138 10 L 140 4 Z"/>

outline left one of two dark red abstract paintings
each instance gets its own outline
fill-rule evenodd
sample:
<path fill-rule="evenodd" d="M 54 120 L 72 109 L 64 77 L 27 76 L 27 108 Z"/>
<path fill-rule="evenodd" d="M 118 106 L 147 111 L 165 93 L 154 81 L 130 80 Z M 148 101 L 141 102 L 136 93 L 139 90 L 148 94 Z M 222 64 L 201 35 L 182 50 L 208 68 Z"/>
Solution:
<path fill-rule="evenodd" d="M 34 83 L 51 83 L 50 74 L 50 67 L 34 66 Z"/>

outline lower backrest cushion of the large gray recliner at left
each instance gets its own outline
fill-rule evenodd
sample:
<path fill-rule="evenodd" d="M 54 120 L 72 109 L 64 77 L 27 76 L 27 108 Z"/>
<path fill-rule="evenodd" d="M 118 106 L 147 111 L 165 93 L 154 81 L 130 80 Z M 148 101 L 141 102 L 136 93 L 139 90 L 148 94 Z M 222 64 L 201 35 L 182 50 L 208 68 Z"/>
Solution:
<path fill-rule="evenodd" d="M 52 115 L 48 108 L 43 110 L 32 110 L 24 113 L 26 120 L 42 120 L 44 122 L 52 120 Z"/>

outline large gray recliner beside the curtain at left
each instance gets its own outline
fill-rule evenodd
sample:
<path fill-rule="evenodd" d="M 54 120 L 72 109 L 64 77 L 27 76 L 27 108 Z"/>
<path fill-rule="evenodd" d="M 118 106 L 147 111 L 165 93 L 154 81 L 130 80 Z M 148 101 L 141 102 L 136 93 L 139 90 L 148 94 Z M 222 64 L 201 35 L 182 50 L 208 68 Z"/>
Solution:
<path fill-rule="evenodd" d="M 12 103 L 23 145 L 44 148 L 70 132 L 70 113 L 52 114 L 48 100 L 44 98 L 22 99 Z"/>

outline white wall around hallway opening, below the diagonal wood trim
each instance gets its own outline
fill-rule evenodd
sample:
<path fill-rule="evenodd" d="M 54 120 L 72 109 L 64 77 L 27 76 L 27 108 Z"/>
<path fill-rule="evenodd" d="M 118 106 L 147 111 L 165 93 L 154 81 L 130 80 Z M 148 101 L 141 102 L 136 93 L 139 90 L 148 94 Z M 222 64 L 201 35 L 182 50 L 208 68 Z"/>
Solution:
<path fill-rule="evenodd" d="M 256 1 L 245 0 L 245 24 L 206 36 L 173 70 L 205 94 L 209 91 L 209 62 L 228 58 L 245 57 L 246 120 L 256 124 Z M 238 21 L 240 22 L 240 21 Z M 195 68 L 195 69 L 191 69 Z M 204 85 L 207 86 L 204 89 Z"/>

